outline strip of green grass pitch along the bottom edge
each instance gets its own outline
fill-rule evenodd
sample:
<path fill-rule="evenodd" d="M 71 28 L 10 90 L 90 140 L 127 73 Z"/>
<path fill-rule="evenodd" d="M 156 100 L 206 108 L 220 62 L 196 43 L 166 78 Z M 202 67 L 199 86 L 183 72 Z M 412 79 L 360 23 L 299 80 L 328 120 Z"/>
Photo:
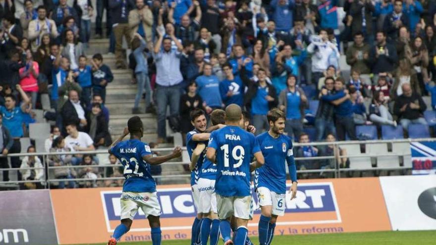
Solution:
<path fill-rule="evenodd" d="M 250 239 L 255 245 L 259 244 L 257 237 Z M 119 245 L 152 245 L 152 243 L 120 242 Z M 190 245 L 190 241 L 163 241 L 162 245 Z M 222 241 L 219 245 L 222 245 Z M 436 231 L 387 231 L 274 236 L 272 245 L 436 245 Z"/>

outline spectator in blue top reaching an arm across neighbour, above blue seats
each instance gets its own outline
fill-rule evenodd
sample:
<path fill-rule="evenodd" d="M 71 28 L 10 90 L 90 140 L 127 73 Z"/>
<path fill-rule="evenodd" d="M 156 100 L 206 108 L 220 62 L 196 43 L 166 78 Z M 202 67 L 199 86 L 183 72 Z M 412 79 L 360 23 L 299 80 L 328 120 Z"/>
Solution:
<path fill-rule="evenodd" d="M 345 134 L 348 134 L 350 140 L 356 140 L 356 130 L 351 111 L 350 95 L 344 91 L 344 82 L 342 79 L 336 79 L 334 82 L 335 93 L 327 95 L 327 90 L 323 89 L 321 99 L 334 104 L 336 134 L 339 141 L 345 140 Z"/>

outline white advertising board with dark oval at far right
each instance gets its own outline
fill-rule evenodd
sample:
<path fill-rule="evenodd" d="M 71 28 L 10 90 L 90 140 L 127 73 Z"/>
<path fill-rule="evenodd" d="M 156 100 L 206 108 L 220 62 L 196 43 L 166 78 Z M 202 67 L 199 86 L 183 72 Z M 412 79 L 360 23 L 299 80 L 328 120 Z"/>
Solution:
<path fill-rule="evenodd" d="M 392 230 L 436 230 L 436 176 L 380 177 Z"/>

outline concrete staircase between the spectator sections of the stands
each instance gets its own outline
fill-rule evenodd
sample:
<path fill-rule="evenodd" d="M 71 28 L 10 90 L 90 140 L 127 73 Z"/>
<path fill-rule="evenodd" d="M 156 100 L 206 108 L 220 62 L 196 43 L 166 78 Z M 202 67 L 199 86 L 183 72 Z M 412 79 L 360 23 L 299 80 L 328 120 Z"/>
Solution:
<path fill-rule="evenodd" d="M 141 117 L 144 124 L 144 137 L 142 140 L 144 142 L 156 142 L 158 139 L 158 127 L 157 127 L 157 117 L 153 114 L 145 113 L 145 101 L 141 98 L 139 107 L 144 114 L 132 114 L 132 108 L 135 101 L 137 85 L 132 84 L 132 71 L 129 69 L 115 69 L 115 55 L 113 53 L 108 53 L 109 50 L 109 39 L 91 39 L 89 42 L 89 49 L 87 50 L 88 57 L 92 57 L 94 53 L 101 53 L 103 55 L 103 62 L 107 64 L 113 73 L 113 81 L 109 83 L 106 88 L 106 103 L 105 105 L 109 109 L 110 120 L 109 120 L 109 131 L 111 133 L 112 139 L 117 139 L 124 127 L 127 126 L 127 120 L 136 115 Z M 168 136 L 170 136 L 171 130 L 167 130 Z M 174 139 L 177 145 L 180 145 L 179 139 L 177 137 Z M 170 144 L 159 144 L 158 148 L 172 148 L 173 143 Z M 167 154 L 169 151 L 158 150 L 160 154 Z M 184 157 L 186 160 L 186 157 Z M 181 162 L 182 157 L 179 159 L 174 159 L 172 162 Z M 189 174 L 189 172 L 183 169 L 182 164 L 177 165 L 165 165 L 162 166 L 162 176 L 165 175 L 180 175 Z M 159 184 L 187 184 L 189 183 L 189 178 L 162 178 L 158 180 Z"/>

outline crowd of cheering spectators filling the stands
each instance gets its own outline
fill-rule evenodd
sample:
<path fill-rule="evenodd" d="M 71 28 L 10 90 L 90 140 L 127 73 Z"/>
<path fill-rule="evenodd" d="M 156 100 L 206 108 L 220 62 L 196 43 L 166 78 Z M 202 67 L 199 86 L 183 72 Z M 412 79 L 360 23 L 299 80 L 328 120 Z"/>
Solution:
<path fill-rule="evenodd" d="M 3 155 L 21 152 L 20 138 L 41 109 L 55 125 L 46 151 L 111 144 L 105 102 L 114 75 L 90 48 L 94 17 L 95 38 L 109 39 L 112 68 L 133 71 L 132 113 L 157 114 L 158 144 L 167 141 L 167 120 L 186 134 L 192 109 L 210 114 L 231 103 L 245 108 L 256 134 L 268 130 L 271 108 L 283 110 L 285 132 L 295 142 L 362 140 L 356 125 L 399 125 L 407 136 L 411 124 L 429 123 L 427 107 L 436 110 L 436 0 L 96 0 L 95 6 L 91 0 L 0 0 Z M 347 165 L 332 147 L 296 151 L 336 154 Z M 0 168 L 9 166 L 5 159 Z M 36 159 L 11 157 L 10 165 L 40 166 Z M 331 165 L 310 162 L 299 166 Z M 49 164 L 90 165 L 54 171 L 56 179 L 122 174 L 91 167 L 98 158 L 87 154 L 51 156 Z M 18 179 L 40 175 L 22 170 Z M 59 182 L 60 188 L 76 185 L 96 182 Z"/>

